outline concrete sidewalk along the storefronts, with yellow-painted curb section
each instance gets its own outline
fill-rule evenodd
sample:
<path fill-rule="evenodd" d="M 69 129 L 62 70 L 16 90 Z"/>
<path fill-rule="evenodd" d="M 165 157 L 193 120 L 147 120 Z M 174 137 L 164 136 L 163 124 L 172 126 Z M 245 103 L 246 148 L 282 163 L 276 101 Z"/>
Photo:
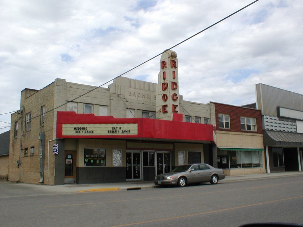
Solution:
<path fill-rule="evenodd" d="M 225 179 L 220 180 L 219 183 L 228 183 L 233 181 L 263 179 L 269 177 L 288 177 L 288 176 L 303 176 L 303 172 L 282 172 L 282 173 L 264 173 L 264 174 L 248 174 L 238 176 L 226 176 Z M 12 183 L 12 182 L 7 182 Z M 15 184 L 15 183 L 14 183 Z M 35 185 L 18 183 L 15 185 L 22 185 L 28 189 L 37 189 L 41 192 L 43 190 L 46 194 L 60 194 L 60 193 L 80 193 L 80 192 L 101 192 L 101 191 L 119 191 L 119 190 L 138 190 L 143 188 L 158 187 L 154 182 L 150 181 L 127 181 L 123 183 L 100 183 L 100 184 L 65 184 L 65 185 Z"/>

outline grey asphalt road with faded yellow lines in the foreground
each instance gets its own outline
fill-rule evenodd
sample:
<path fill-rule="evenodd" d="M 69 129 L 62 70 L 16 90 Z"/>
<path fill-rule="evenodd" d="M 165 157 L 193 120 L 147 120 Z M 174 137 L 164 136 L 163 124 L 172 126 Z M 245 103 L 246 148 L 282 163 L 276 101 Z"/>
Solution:
<path fill-rule="evenodd" d="M 26 196 L 20 187 L 14 188 L 14 184 L 0 183 L 0 225 L 236 227 L 251 222 L 303 224 L 302 189 L 303 175 L 133 191 L 43 195 L 42 189 L 37 189 L 35 196 Z"/>

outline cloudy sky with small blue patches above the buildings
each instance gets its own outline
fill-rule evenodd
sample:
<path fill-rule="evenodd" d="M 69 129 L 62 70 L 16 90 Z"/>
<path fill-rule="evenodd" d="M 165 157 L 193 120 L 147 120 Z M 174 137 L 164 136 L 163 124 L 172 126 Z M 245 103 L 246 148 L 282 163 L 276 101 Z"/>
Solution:
<path fill-rule="evenodd" d="M 0 133 L 23 89 L 100 86 L 251 2 L 1 0 Z M 301 0 L 259 0 L 173 48 L 179 94 L 231 105 L 254 103 L 258 83 L 303 94 L 302 12 Z M 159 72 L 160 56 L 123 76 L 158 83 Z"/>

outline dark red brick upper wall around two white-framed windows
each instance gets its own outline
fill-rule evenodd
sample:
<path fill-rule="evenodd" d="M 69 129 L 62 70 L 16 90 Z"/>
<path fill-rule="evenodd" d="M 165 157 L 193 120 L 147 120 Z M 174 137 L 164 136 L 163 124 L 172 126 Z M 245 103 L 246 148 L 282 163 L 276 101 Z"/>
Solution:
<path fill-rule="evenodd" d="M 213 103 L 213 104 L 215 104 L 216 130 L 262 134 L 261 110 L 256 110 L 246 107 L 237 107 L 237 106 L 221 104 L 221 103 Z M 229 115 L 230 129 L 219 128 L 218 114 Z M 241 130 L 240 117 L 255 118 L 257 124 L 257 131 Z"/>

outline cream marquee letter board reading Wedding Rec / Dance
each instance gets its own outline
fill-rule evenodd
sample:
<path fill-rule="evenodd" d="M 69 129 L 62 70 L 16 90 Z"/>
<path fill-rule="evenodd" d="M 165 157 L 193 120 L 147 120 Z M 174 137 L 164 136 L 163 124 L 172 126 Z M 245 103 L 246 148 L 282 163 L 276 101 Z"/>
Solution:
<path fill-rule="evenodd" d="M 62 136 L 137 135 L 138 124 L 62 124 Z"/>

